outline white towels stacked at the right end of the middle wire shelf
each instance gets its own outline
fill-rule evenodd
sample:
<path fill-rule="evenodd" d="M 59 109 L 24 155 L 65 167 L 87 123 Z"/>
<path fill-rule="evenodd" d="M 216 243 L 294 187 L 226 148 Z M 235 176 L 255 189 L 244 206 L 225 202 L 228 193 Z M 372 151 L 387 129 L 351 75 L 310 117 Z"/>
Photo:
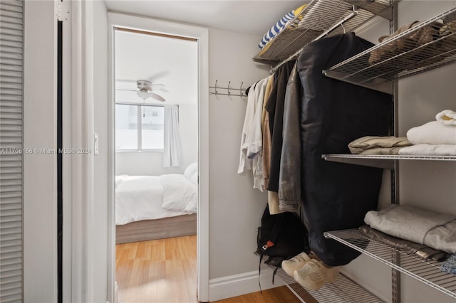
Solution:
<path fill-rule="evenodd" d="M 399 150 L 399 154 L 456 156 L 456 112 L 443 110 L 435 115 L 435 121 L 407 132 L 413 145 Z"/>

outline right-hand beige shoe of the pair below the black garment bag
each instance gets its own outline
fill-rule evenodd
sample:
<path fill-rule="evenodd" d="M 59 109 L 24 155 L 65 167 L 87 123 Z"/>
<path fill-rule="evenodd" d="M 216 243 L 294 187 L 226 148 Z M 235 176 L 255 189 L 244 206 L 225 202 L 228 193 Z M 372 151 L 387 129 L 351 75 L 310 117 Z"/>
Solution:
<path fill-rule="evenodd" d="M 296 282 L 306 289 L 319 289 L 326 282 L 328 267 L 322 262 L 311 259 L 303 267 L 294 271 Z"/>

